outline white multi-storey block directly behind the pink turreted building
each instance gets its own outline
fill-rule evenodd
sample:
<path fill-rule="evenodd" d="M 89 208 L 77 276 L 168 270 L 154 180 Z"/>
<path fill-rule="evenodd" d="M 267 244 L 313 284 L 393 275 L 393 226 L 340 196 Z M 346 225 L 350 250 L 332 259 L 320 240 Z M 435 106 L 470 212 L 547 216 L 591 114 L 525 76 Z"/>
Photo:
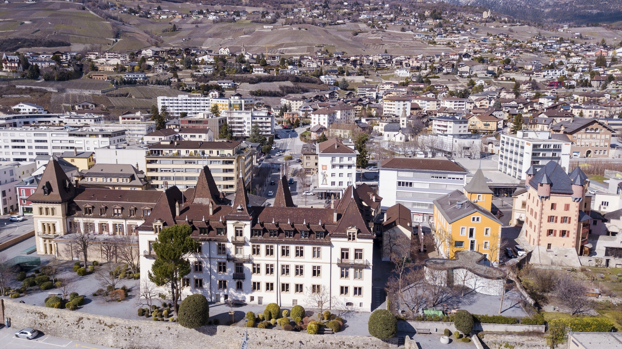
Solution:
<path fill-rule="evenodd" d="M 549 162 L 559 163 L 568 171 L 570 139 L 549 131 L 523 130 L 516 135 L 501 135 L 499 171 L 514 178 L 526 179 L 531 166 L 541 169 Z"/>

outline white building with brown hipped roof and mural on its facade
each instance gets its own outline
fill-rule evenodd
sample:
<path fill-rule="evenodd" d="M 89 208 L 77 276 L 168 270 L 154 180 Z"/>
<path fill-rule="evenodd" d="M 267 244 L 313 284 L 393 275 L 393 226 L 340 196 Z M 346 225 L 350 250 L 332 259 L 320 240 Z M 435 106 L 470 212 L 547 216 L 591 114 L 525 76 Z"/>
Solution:
<path fill-rule="evenodd" d="M 318 143 L 318 173 L 313 179 L 313 194 L 319 199 L 340 199 L 348 186 L 356 179 L 356 156 L 354 143 L 332 138 Z"/>

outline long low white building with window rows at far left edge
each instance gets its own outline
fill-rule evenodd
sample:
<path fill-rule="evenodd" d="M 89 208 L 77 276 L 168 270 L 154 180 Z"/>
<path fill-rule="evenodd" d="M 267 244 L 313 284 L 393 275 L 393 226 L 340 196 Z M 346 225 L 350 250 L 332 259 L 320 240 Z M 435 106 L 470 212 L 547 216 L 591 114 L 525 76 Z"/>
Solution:
<path fill-rule="evenodd" d="M 9 127 L 1 129 L 1 161 L 34 161 L 37 155 L 62 155 L 125 142 L 126 130 L 73 129 L 70 127 Z"/>

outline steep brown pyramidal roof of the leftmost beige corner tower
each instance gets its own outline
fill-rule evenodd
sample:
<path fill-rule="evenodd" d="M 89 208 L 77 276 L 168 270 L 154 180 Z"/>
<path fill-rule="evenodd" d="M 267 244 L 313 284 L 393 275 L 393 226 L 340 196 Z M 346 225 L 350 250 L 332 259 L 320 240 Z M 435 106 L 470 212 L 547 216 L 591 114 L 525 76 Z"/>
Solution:
<path fill-rule="evenodd" d="M 44 190 L 45 187 L 45 190 Z M 65 202 L 75 196 L 75 187 L 55 158 L 50 159 L 34 194 L 28 197 L 35 202 Z"/>

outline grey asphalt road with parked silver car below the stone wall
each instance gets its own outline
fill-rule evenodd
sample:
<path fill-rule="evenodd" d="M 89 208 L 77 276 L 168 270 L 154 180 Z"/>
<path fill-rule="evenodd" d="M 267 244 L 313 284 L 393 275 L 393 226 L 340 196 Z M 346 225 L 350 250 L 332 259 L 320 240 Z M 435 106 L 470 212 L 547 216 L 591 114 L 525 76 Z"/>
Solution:
<path fill-rule="evenodd" d="M 1 349 L 58 349 L 58 348 L 89 348 L 89 349 L 113 349 L 111 347 L 104 347 L 103 345 L 96 345 L 86 342 L 80 342 L 77 340 L 70 340 L 65 338 L 50 337 L 45 334 L 40 334 L 32 340 L 26 338 L 15 337 L 15 332 L 18 331 L 17 327 L 10 327 L 7 329 L 2 326 L 0 329 L 0 348 Z"/>

